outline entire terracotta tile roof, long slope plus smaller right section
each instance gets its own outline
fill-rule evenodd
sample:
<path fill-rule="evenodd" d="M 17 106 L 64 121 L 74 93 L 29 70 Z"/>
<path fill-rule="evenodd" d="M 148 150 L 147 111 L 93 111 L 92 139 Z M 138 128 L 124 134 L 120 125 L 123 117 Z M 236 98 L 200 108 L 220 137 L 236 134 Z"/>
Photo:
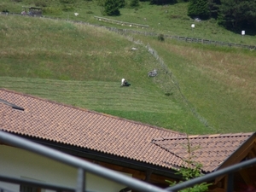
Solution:
<path fill-rule="evenodd" d="M 187 157 L 182 143 L 184 134 L 152 125 L 120 119 L 104 113 L 74 108 L 0 89 L 0 99 L 25 110 L 17 110 L 0 102 L 0 129 L 55 143 L 88 148 L 155 166 L 174 168 Z M 204 171 L 212 172 L 250 136 L 228 134 L 190 136 Z M 217 148 L 218 147 L 218 148 Z"/>

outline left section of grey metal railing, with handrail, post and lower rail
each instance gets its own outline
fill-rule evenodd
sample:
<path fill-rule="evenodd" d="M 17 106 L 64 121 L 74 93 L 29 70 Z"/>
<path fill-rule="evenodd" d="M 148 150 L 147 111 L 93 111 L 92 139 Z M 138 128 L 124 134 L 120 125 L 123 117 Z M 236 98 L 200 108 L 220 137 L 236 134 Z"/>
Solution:
<path fill-rule="evenodd" d="M 90 173 L 96 174 L 97 176 L 108 178 L 114 182 L 125 184 L 125 186 L 128 186 L 131 189 L 136 189 L 138 191 L 167 192 L 166 189 L 160 189 L 159 187 L 156 187 L 152 184 L 145 183 L 135 178 L 119 174 L 118 172 L 113 172 L 112 170 L 109 170 L 102 166 L 97 166 L 88 161 L 80 160 L 79 158 L 76 158 L 72 155 L 64 154 L 55 149 L 45 147 L 38 143 L 33 143 L 24 138 L 14 136 L 4 131 L 0 131 L 0 142 L 7 143 L 17 148 L 23 148 L 35 154 L 41 154 L 41 155 L 44 155 L 45 157 L 49 157 L 52 160 L 58 160 L 59 162 L 78 168 L 77 187 L 75 189 L 69 188 L 66 186 L 59 186 L 56 184 L 34 182 L 34 181 L 23 179 L 23 178 L 6 177 L 6 176 L 0 175 L 0 181 L 3 181 L 3 182 L 23 183 L 31 186 L 38 186 L 43 189 L 53 189 L 55 191 L 84 192 L 84 190 L 86 191 L 84 173 L 90 172 Z"/>

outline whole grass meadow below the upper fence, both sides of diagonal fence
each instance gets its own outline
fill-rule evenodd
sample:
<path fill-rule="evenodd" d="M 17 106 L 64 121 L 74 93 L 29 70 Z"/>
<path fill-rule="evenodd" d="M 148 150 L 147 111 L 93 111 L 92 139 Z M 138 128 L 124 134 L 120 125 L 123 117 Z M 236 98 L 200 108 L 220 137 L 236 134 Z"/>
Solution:
<path fill-rule="evenodd" d="M 0 21 L 0 87 L 189 134 L 255 131 L 254 51 L 133 35 L 157 51 L 170 75 L 145 46 L 103 28 L 20 16 Z M 159 75 L 150 79 L 154 68 Z M 122 78 L 131 87 L 120 88 Z"/>

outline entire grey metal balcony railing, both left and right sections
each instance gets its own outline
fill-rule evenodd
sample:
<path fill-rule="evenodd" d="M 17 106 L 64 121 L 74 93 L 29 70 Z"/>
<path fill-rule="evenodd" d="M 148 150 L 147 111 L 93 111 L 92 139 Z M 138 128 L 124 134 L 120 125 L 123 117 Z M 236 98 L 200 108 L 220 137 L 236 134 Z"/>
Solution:
<path fill-rule="evenodd" d="M 195 184 L 198 183 L 204 183 L 214 180 L 216 177 L 220 177 L 223 175 L 228 175 L 228 188 L 227 192 L 233 192 L 233 174 L 234 172 L 240 171 L 242 169 L 245 169 L 249 166 L 256 165 L 256 158 L 252 160 L 246 160 L 239 164 L 236 164 L 234 166 L 229 166 L 224 169 L 221 169 L 217 172 L 208 173 L 207 175 L 204 175 L 202 177 L 196 177 L 194 179 L 191 179 L 187 182 L 178 183 L 175 186 L 166 188 L 166 189 L 160 189 L 152 184 L 144 183 L 142 181 L 139 181 L 132 177 L 127 177 L 125 175 L 119 174 L 117 172 L 113 172 L 112 170 L 109 170 L 107 168 L 104 168 L 102 166 L 97 166 L 95 164 L 92 164 L 90 162 L 87 162 L 85 160 L 80 160 L 76 157 L 73 157 L 69 154 L 64 154 L 60 151 L 57 151 L 52 148 L 45 147 L 43 145 L 40 145 L 38 143 L 32 143 L 31 141 L 28 141 L 24 138 L 14 136 L 12 134 L 9 134 L 4 131 L 0 131 L 0 142 L 7 143 L 11 146 L 23 148 L 28 151 L 31 151 L 35 154 L 41 154 L 45 157 L 49 157 L 53 160 L 58 160 L 62 163 L 65 163 L 70 166 L 74 166 L 78 168 L 78 177 L 77 177 L 77 187 L 76 188 L 69 188 L 66 186 L 60 186 L 54 183 L 41 183 L 41 182 L 35 182 L 31 180 L 26 180 L 23 178 L 15 178 L 15 177 L 6 177 L 3 175 L 0 175 L 0 181 L 8 182 L 8 183 L 20 183 L 20 184 L 27 184 L 30 186 L 37 186 L 43 189 L 52 189 L 55 191 L 67 191 L 67 192 L 89 192 L 86 190 L 85 186 L 85 172 L 90 172 L 93 174 L 96 174 L 100 177 L 108 178 L 112 181 L 115 181 L 117 183 L 125 184 L 125 186 L 128 186 L 131 189 L 136 189 L 138 191 L 143 192 L 167 192 L 167 191 L 178 191 L 181 189 L 186 189 L 188 187 L 192 187 Z M 10 192 L 8 189 L 1 189 L 0 192 Z"/>

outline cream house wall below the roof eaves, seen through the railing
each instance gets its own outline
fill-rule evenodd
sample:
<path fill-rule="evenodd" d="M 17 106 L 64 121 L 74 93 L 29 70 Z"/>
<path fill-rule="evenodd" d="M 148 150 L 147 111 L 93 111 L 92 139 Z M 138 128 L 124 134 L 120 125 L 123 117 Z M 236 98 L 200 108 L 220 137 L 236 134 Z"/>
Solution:
<path fill-rule="evenodd" d="M 9 177 L 35 179 L 45 183 L 55 183 L 76 187 L 77 169 L 20 148 L 0 144 L 0 174 Z M 123 173 L 125 174 L 125 173 Z M 129 174 L 125 174 L 129 175 Z M 131 177 L 131 175 L 129 175 Z M 86 189 L 96 192 L 119 192 L 125 185 L 86 173 Z M 0 182 L 4 189 L 19 191 L 17 184 Z"/>

